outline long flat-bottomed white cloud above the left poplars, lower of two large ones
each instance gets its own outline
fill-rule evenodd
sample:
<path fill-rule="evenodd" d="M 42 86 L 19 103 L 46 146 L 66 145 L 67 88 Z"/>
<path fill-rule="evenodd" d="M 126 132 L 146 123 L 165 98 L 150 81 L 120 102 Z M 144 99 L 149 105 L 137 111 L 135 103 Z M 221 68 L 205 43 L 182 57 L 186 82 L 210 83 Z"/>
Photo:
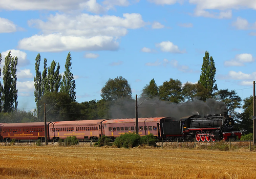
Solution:
<path fill-rule="evenodd" d="M 91 38 L 76 36 L 61 36 L 60 34 L 34 35 L 18 42 L 18 47 L 36 52 L 60 51 L 97 51 L 117 50 L 118 42 L 109 36 L 95 36 Z"/>

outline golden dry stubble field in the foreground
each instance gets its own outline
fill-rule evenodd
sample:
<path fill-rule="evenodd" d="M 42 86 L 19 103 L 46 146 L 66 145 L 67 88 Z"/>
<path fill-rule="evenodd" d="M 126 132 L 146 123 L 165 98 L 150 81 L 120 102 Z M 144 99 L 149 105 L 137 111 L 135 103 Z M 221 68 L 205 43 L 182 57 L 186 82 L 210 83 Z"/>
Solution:
<path fill-rule="evenodd" d="M 256 178 L 248 150 L 0 146 L 0 178 Z"/>

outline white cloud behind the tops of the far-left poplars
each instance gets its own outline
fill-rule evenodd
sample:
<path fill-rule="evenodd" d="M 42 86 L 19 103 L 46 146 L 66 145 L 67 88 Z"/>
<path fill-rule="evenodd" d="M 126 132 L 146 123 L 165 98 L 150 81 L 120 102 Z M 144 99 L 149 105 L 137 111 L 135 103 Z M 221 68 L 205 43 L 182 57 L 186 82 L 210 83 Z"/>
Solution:
<path fill-rule="evenodd" d="M 15 57 L 17 56 L 18 57 L 18 64 L 17 66 L 20 67 L 20 66 L 26 66 L 29 64 L 29 60 L 27 59 L 27 53 L 23 52 L 23 51 L 20 51 L 20 50 L 7 50 L 5 52 L 2 52 L 2 59 L 5 59 L 5 57 L 8 55 L 8 53 L 11 51 L 11 56 L 12 57 Z M 4 64 L 4 63 L 3 63 Z"/>

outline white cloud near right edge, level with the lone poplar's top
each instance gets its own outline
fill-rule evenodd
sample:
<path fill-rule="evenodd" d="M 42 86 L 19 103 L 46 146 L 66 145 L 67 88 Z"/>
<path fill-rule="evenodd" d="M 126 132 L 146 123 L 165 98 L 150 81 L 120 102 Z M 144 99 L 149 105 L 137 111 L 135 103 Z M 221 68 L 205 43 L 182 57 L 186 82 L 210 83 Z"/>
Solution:
<path fill-rule="evenodd" d="M 253 62 L 254 58 L 251 54 L 238 54 L 234 59 L 225 61 L 225 66 L 244 66 L 244 63 Z"/>

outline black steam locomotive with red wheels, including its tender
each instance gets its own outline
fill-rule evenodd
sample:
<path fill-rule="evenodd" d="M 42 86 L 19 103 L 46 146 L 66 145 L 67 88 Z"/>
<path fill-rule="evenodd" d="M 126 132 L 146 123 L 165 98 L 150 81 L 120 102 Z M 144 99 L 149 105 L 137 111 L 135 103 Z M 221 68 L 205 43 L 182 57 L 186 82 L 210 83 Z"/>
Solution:
<path fill-rule="evenodd" d="M 209 114 L 205 117 L 192 115 L 173 120 L 166 128 L 172 128 L 172 133 L 166 135 L 170 141 L 215 142 L 216 140 L 240 139 L 241 131 L 233 131 L 234 120 L 227 114 Z"/>

